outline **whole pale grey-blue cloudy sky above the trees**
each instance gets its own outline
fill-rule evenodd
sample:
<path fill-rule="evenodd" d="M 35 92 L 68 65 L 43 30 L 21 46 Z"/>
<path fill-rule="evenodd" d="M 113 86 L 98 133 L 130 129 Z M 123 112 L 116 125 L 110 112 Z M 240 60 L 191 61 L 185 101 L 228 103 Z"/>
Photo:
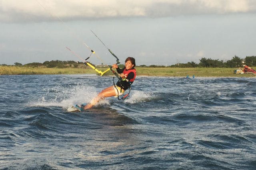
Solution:
<path fill-rule="evenodd" d="M 255 28 L 255 0 L 0 0 L 0 64 L 225 62 L 256 56 Z"/>

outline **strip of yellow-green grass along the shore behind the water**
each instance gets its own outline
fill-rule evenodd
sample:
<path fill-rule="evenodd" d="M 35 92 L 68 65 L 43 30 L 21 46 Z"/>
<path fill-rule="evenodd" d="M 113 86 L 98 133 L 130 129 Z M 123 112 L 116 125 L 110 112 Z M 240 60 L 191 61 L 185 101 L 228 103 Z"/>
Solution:
<path fill-rule="evenodd" d="M 136 67 L 138 76 L 179 76 L 186 77 L 255 77 L 254 74 L 234 74 L 237 68 L 148 68 Z M 100 69 L 99 69 L 100 70 Z M 102 68 L 106 70 L 106 68 Z M 96 74 L 91 68 L 31 68 L 0 66 L 0 74 Z M 112 75 L 109 71 L 105 75 Z"/>

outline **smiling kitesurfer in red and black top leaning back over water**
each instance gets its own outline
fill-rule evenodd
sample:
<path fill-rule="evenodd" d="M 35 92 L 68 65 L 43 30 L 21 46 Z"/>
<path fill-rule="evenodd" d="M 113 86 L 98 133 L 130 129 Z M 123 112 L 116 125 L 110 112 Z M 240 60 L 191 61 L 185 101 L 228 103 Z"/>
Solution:
<path fill-rule="evenodd" d="M 136 78 L 136 66 L 135 59 L 133 57 L 128 57 L 125 60 L 125 67 L 119 68 L 117 64 L 113 64 L 112 67 L 116 68 L 116 71 L 119 73 L 122 80 L 118 81 L 116 85 L 110 86 L 102 90 L 91 102 L 87 105 L 78 106 L 80 110 L 90 109 L 95 106 L 100 100 L 103 100 L 107 97 L 118 97 L 124 93 L 125 90 L 130 88 L 131 84 Z"/>

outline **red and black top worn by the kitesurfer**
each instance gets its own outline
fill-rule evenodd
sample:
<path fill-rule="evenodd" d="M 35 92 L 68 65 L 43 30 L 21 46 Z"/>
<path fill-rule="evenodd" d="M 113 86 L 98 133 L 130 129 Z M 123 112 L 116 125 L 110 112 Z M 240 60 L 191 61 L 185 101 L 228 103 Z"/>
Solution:
<path fill-rule="evenodd" d="M 116 71 L 119 74 L 124 73 L 124 75 L 126 77 L 125 79 L 118 81 L 116 83 L 116 85 L 124 90 L 127 90 L 128 88 L 130 88 L 131 84 L 133 83 L 133 81 L 136 77 L 136 69 L 132 68 L 132 69 L 126 70 L 126 68 L 120 69 L 118 67 L 118 68 L 116 68 Z"/>

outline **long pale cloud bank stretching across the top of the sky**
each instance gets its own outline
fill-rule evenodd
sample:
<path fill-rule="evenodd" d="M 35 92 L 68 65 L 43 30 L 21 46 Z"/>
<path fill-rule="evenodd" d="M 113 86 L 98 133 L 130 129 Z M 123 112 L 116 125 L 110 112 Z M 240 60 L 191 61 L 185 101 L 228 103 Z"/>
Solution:
<path fill-rule="evenodd" d="M 1 22 L 256 12 L 255 0 L 0 0 Z"/>

